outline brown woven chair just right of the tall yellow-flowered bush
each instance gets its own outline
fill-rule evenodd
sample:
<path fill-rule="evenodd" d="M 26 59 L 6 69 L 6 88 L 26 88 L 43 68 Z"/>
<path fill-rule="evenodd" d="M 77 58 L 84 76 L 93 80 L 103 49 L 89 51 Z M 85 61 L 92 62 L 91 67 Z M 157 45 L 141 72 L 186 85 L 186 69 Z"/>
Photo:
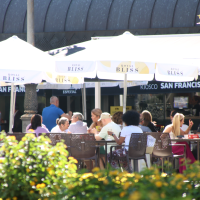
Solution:
<path fill-rule="evenodd" d="M 90 160 L 90 170 L 92 160 L 95 160 L 97 166 L 97 148 L 94 134 L 71 134 L 71 156 L 79 161 L 80 168 L 83 168 L 85 160 Z"/>

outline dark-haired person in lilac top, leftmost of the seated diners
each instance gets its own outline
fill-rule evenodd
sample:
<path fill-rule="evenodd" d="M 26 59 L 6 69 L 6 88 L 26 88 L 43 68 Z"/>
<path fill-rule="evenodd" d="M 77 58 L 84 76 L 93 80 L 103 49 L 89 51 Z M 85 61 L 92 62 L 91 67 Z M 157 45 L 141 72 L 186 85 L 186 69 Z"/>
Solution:
<path fill-rule="evenodd" d="M 47 128 L 42 127 L 42 116 L 35 114 L 31 117 L 31 126 L 29 127 L 28 133 L 35 133 L 38 137 L 39 133 L 49 133 Z"/>

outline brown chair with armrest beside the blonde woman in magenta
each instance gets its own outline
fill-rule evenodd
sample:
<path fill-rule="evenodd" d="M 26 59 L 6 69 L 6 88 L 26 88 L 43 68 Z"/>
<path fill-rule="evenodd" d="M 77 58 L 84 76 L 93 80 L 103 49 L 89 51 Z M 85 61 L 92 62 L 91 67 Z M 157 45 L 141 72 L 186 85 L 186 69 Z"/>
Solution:
<path fill-rule="evenodd" d="M 152 157 L 162 158 L 162 171 L 164 168 L 164 159 L 172 158 L 172 162 L 175 158 L 185 158 L 186 159 L 186 145 L 185 144 L 171 144 L 171 139 L 169 133 L 152 132 L 145 133 L 151 135 L 156 139 Z M 172 146 L 184 146 L 184 153 L 182 155 L 176 155 L 172 152 Z M 173 162 L 174 163 L 174 162 Z"/>

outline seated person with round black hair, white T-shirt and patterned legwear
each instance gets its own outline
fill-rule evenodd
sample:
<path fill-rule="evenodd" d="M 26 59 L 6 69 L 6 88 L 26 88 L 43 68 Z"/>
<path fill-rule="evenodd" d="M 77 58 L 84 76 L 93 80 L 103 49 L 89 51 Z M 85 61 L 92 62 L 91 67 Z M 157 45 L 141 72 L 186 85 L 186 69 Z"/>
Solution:
<path fill-rule="evenodd" d="M 125 141 L 125 145 L 129 145 L 129 141 L 130 141 L 130 137 L 131 137 L 132 133 L 143 133 L 142 129 L 140 127 L 138 127 L 139 120 L 140 120 L 140 114 L 136 111 L 129 110 L 123 114 L 122 120 L 125 123 L 125 127 L 122 129 L 120 137 L 118 138 L 118 136 L 115 133 L 110 132 L 110 131 L 108 132 L 108 134 L 110 136 L 114 137 L 114 139 L 118 145 L 121 145 L 124 141 Z M 122 149 L 117 149 L 112 152 L 112 157 L 114 157 L 115 155 L 116 156 L 118 155 L 120 157 L 126 158 L 127 152 L 128 152 L 128 147 L 124 147 Z M 108 158 L 108 162 L 110 162 L 110 153 L 108 153 L 107 158 Z M 121 162 L 121 166 L 125 170 L 128 171 L 128 163 L 127 163 L 126 159 L 124 159 L 124 161 L 120 161 L 120 162 Z M 113 168 L 119 168 L 118 160 L 112 159 L 110 164 Z M 130 163 L 129 163 L 129 165 L 130 165 Z"/>

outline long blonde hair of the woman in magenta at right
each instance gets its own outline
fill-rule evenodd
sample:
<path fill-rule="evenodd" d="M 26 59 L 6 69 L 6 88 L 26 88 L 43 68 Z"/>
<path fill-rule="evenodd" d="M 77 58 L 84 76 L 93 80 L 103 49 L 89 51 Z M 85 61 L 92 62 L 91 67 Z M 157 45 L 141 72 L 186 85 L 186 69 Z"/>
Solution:
<path fill-rule="evenodd" d="M 175 136 L 180 135 L 180 127 L 184 124 L 184 115 L 176 113 L 172 121 L 172 132 Z"/>

